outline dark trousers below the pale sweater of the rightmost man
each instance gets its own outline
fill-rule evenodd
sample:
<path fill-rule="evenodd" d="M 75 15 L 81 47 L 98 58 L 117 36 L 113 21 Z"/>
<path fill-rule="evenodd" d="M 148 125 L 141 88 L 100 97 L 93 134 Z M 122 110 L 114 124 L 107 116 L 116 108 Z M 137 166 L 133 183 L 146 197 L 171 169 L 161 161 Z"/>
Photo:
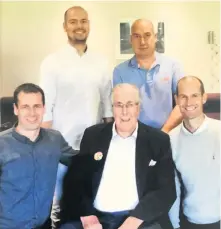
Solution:
<path fill-rule="evenodd" d="M 181 229 L 220 229 L 220 221 L 210 224 L 195 224 L 187 220 L 186 216 L 182 216 L 180 219 Z"/>

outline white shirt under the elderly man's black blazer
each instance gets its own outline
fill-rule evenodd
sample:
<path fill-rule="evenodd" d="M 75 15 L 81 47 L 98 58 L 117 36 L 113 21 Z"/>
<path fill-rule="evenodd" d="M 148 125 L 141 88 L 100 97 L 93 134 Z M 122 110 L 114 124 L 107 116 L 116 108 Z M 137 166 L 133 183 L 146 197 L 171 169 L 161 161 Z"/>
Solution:
<path fill-rule="evenodd" d="M 139 202 L 135 174 L 137 128 L 130 137 L 122 138 L 113 125 L 110 147 L 94 200 L 94 207 L 100 211 L 131 210 Z"/>

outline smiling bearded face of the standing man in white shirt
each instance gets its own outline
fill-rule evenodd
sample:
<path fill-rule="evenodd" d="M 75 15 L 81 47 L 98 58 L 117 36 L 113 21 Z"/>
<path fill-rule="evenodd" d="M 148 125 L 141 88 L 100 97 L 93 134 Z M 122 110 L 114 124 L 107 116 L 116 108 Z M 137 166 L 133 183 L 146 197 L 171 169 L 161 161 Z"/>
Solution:
<path fill-rule="evenodd" d="M 72 44 L 85 44 L 89 34 L 87 12 L 81 7 L 72 7 L 65 14 L 64 30 Z"/>

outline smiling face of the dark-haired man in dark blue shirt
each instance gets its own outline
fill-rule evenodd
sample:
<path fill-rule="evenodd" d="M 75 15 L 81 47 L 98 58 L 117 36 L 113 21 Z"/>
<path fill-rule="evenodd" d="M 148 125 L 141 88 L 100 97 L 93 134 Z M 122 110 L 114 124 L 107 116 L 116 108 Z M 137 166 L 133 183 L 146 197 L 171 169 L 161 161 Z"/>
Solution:
<path fill-rule="evenodd" d="M 18 128 L 22 131 L 38 130 L 43 120 L 45 108 L 41 93 L 18 94 L 18 104 L 14 113 L 18 116 Z"/>

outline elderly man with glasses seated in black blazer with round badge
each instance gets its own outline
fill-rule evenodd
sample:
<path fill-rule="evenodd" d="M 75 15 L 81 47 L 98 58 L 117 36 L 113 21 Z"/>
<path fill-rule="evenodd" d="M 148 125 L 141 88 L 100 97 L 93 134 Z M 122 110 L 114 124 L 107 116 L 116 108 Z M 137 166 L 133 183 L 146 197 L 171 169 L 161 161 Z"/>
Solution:
<path fill-rule="evenodd" d="M 175 198 L 169 136 L 137 118 L 136 86 L 119 84 L 114 123 L 85 130 L 64 179 L 62 229 L 172 229 Z"/>

